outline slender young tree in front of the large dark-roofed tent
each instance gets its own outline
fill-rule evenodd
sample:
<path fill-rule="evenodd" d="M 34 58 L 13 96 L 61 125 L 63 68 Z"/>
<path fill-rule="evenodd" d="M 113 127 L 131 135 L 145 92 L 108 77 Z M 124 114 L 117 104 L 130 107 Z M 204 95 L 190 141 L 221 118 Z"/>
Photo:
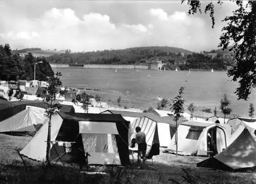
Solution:
<path fill-rule="evenodd" d="M 47 149 L 46 149 L 46 162 L 47 166 L 50 166 L 50 149 L 51 149 L 51 119 L 54 114 L 57 113 L 58 105 L 53 104 L 53 102 L 56 100 L 57 95 L 57 87 L 60 87 L 62 85 L 62 82 L 60 81 L 61 73 L 57 72 L 55 76 L 51 76 L 47 78 L 48 87 L 46 88 L 46 91 L 44 91 L 46 95 L 46 101 L 50 101 L 49 108 L 46 109 L 46 117 L 49 118 L 49 124 L 48 124 L 48 135 L 47 135 Z M 60 95 L 64 96 L 66 91 L 60 91 Z"/>

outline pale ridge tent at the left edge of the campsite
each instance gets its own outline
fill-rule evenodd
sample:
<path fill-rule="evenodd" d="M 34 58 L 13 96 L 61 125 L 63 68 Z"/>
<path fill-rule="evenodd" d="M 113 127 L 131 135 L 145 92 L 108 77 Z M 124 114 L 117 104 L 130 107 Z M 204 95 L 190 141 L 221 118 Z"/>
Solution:
<path fill-rule="evenodd" d="M 33 135 L 46 120 L 45 109 L 27 108 L 0 122 L 0 132 Z"/>

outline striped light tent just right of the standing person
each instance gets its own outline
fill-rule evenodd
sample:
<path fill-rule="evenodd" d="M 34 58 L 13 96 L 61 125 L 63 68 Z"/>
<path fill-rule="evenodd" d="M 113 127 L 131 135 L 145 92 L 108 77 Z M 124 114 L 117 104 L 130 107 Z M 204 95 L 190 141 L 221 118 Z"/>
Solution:
<path fill-rule="evenodd" d="M 179 120 L 178 124 L 182 122 Z M 153 113 L 147 113 L 144 117 L 136 119 L 131 127 L 133 129 L 137 126 L 141 128 L 141 131 L 146 134 L 147 145 L 152 146 L 157 143 L 160 147 L 167 147 L 176 131 L 175 125 L 172 116 L 158 117 Z"/>

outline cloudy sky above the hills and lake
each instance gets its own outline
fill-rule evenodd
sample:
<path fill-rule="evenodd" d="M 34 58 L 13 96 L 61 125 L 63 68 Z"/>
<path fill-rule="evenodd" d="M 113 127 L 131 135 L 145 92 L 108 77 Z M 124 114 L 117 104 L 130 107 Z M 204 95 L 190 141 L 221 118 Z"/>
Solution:
<path fill-rule="evenodd" d="M 236 5 L 215 4 L 212 29 L 209 15 L 188 16 L 181 1 L 0 1 L 0 44 L 75 52 L 148 45 L 216 49 L 221 20 Z"/>

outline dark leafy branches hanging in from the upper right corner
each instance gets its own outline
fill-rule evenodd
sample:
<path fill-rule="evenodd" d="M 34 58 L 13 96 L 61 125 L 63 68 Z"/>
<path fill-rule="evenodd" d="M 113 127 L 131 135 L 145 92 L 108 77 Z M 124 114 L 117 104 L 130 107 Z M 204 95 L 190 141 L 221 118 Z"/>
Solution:
<path fill-rule="evenodd" d="M 184 0 L 181 1 L 183 3 Z M 218 1 L 222 4 L 223 1 Z M 200 1 L 187 1 L 188 14 L 201 13 Z M 222 50 L 234 52 L 235 65 L 228 70 L 228 77 L 239 81 L 235 94 L 238 99 L 247 100 L 253 88 L 256 87 L 255 50 L 256 50 L 256 1 L 247 1 L 246 8 L 243 1 L 236 1 L 238 8 L 233 15 L 224 18 L 226 26 L 222 28 L 220 44 Z M 215 26 L 214 4 L 210 1 L 204 12 L 210 12 L 212 28 Z M 230 45 L 231 44 L 231 45 Z"/>

